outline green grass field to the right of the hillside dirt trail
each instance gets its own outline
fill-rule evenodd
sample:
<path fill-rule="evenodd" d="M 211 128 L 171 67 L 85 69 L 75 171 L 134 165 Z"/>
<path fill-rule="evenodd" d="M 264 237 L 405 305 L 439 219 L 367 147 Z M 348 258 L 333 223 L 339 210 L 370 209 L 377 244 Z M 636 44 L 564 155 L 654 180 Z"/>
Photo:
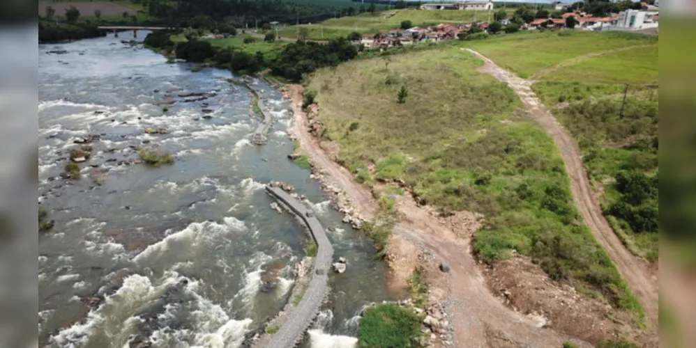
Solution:
<path fill-rule="evenodd" d="M 506 35 L 464 45 L 522 76 L 534 75 L 540 80 L 533 88 L 580 145 L 591 182 L 603 193 L 605 215 L 616 234 L 636 255 L 656 260 L 657 188 L 651 183 L 656 182 L 658 170 L 656 39 L 614 33 L 573 32 L 559 36 L 547 32 Z M 635 48 L 588 55 L 631 46 Z M 549 70 L 559 64 L 559 68 Z M 644 178 L 639 181 L 651 193 L 629 204 L 626 199 L 630 194 L 619 189 L 616 178 L 632 171 L 642 173 Z M 628 208 L 619 203 L 628 204 Z"/>

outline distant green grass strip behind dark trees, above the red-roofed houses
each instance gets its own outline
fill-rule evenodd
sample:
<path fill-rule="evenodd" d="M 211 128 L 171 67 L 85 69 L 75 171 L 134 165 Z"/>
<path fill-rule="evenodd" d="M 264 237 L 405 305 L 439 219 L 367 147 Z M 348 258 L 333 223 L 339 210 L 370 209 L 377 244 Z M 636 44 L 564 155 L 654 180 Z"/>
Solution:
<path fill-rule="evenodd" d="M 363 13 L 351 17 L 327 19 L 321 23 L 300 25 L 307 28 L 309 38 L 322 40 L 328 38 L 345 37 L 349 33 L 377 33 L 389 29 L 399 28 L 401 22 L 411 21 L 414 26 L 428 26 L 441 23 L 462 23 L 476 20 L 487 20 L 488 13 L 481 11 L 435 11 L 435 10 L 387 10 L 379 13 Z M 323 26 L 323 35 L 322 35 Z M 294 38 L 297 26 L 287 26 L 280 31 L 280 35 Z"/>

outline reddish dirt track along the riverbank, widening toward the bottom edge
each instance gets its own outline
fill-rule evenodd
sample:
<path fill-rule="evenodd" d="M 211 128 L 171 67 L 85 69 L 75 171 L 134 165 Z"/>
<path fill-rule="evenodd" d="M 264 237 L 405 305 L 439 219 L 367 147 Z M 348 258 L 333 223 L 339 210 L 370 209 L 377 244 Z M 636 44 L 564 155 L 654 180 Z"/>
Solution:
<path fill-rule="evenodd" d="M 290 129 L 300 148 L 310 155 L 312 164 L 351 199 L 354 209 L 371 219 L 377 210 L 372 194 L 361 187 L 346 168 L 332 161 L 308 132 L 308 120 L 301 109 L 302 86 L 288 85 L 292 97 L 294 122 Z M 397 237 L 430 249 L 437 260 L 446 262 L 451 273 L 441 274 L 448 285 L 448 318 L 455 331 L 454 347 L 550 347 L 574 342 L 578 347 L 592 347 L 587 342 L 569 338 L 551 329 L 539 329 L 537 322 L 510 310 L 494 297 L 485 285 L 481 271 L 470 252 L 469 241 L 457 238 L 425 209 L 400 206 L 407 216 L 395 226 Z"/>

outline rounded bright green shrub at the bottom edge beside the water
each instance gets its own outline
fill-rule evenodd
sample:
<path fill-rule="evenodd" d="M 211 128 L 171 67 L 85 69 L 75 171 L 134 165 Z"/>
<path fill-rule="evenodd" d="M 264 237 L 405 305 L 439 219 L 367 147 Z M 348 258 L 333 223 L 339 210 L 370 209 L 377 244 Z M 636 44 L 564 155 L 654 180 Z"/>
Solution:
<path fill-rule="evenodd" d="M 421 321 L 406 308 L 381 304 L 365 311 L 360 320 L 358 345 L 361 348 L 420 347 Z"/>

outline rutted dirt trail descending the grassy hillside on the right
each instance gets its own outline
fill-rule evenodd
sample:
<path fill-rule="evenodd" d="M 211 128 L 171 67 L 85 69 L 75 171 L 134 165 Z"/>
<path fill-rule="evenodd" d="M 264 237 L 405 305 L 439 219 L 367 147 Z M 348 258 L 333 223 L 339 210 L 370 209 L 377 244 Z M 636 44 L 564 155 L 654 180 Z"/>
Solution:
<path fill-rule="evenodd" d="M 529 111 L 530 116 L 552 136 L 557 147 L 561 150 L 561 157 L 570 177 L 570 188 L 573 191 L 575 205 L 580 210 L 582 219 L 587 223 L 594 237 L 609 253 L 616 268 L 619 269 L 619 273 L 640 301 L 649 319 L 649 325 L 652 326 L 652 329 L 656 329 L 658 327 L 657 277 L 651 274 L 647 262 L 635 257 L 623 246 L 619 237 L 616 237 L 614 230 L 607 223 L 598 200 L 593 196 L 587 172 L 582 163 L 580 148 L 573 137 L 547 111 L 534 91 L 531 90 L 534 81 L 521 79 L 512 72 L 500 68 L 482 54 L 471 49 L 466 50 L 483 59 L 485 65 L 481 68 L 482 72 L 491 74 L 513 88 L 515 93 L 520 96 L 520 100 Z"/>

